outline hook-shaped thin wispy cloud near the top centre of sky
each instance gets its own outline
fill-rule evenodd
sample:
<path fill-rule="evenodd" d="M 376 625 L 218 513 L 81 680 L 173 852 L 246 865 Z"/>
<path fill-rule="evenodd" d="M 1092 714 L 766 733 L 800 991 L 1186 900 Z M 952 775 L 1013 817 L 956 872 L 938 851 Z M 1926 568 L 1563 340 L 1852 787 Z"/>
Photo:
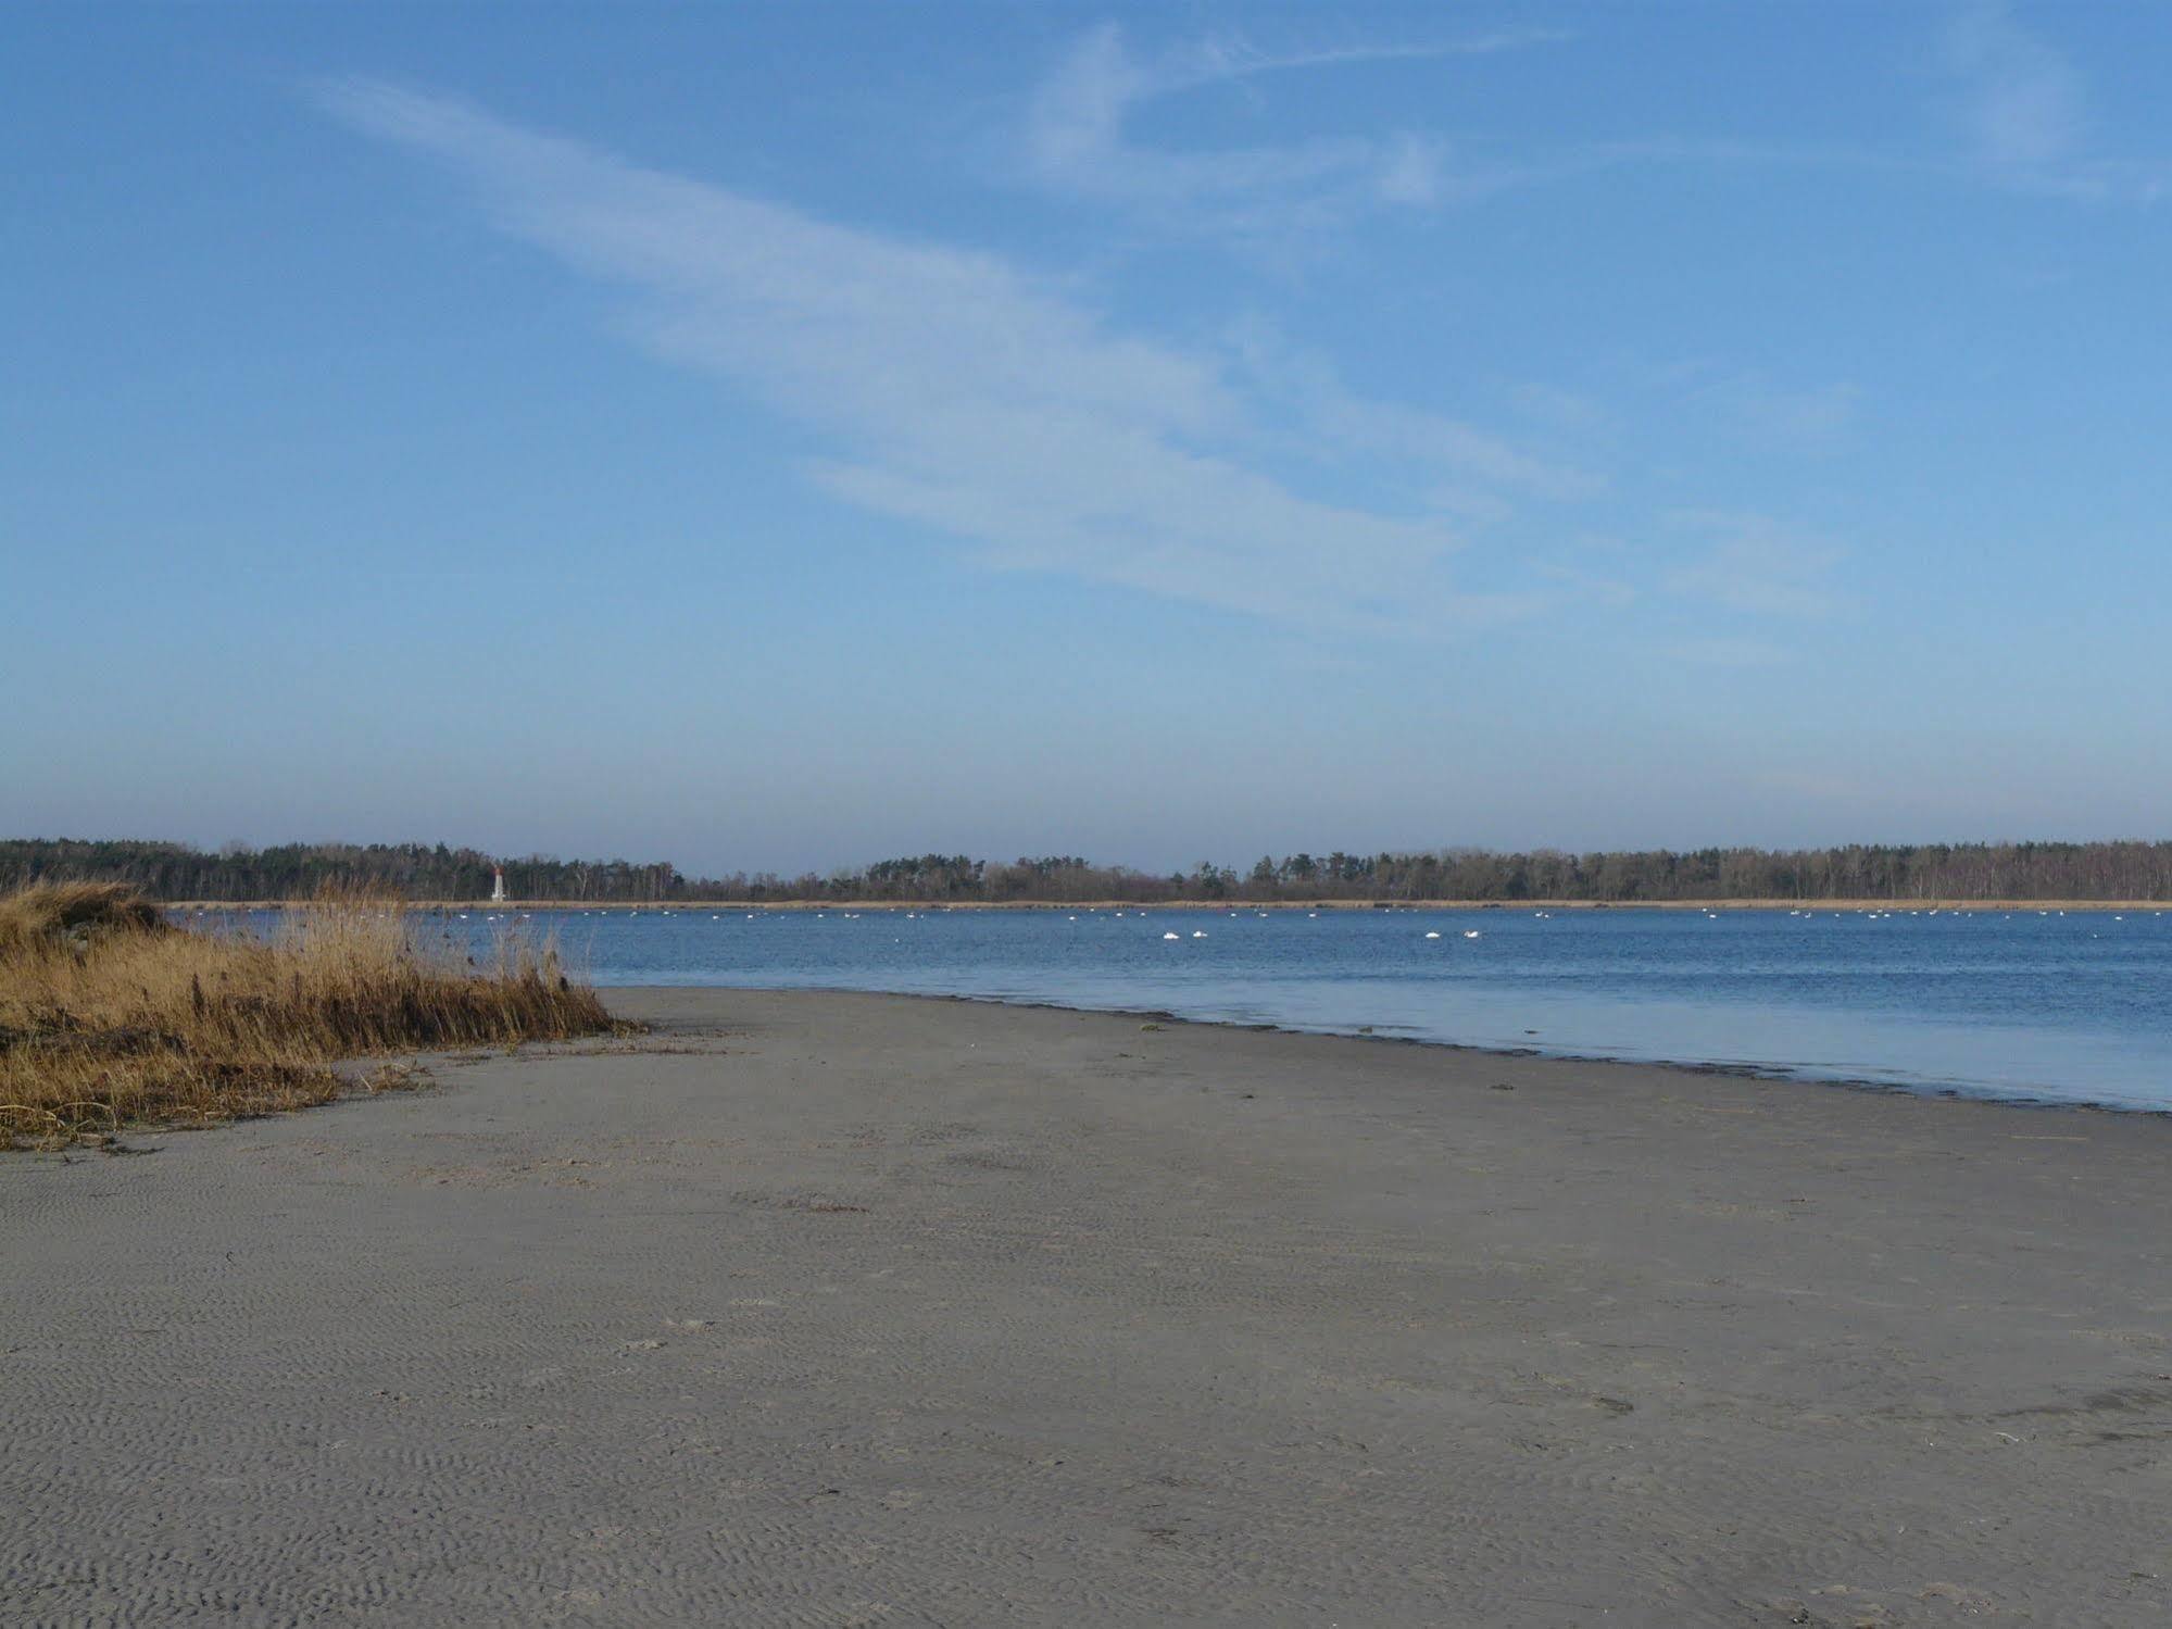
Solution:
<path fill-rule="evenodd" d="M 1027 174 L 1045 187 L 1123 204 L 1166 224 L 1247 235 L 1321 226 L 1373 209 L 1423 209 L 1503 185 L 1510 176 L 1486 163 L 1455 161 L 1444 141 L 1418 130 L 1177 150 L 1134 141 L 1129 119 L 1151 102 L 1210 85 L 1360 63 L 1481 56 L 1564 37 L 1514 30 L 1286 54 L 1240 39 L 1210 39 L 1138 56 L 1121 28 L 1103 24 L 1036 89 L 1025 128 Z"/>

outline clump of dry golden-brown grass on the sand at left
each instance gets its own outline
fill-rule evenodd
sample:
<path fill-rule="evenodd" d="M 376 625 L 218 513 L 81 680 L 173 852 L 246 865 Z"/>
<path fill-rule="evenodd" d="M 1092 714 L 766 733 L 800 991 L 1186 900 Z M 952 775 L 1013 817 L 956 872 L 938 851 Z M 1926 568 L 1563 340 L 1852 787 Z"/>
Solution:
<path fill-rule="evenodd" d="M 389 899 L 319 897 L 258 938 L 174 927 L 115 884 L 0 897 L 0 1147 L 324 1103 L 343 1058 L 617 1027 L 550 943 L 476 967 Z"/>

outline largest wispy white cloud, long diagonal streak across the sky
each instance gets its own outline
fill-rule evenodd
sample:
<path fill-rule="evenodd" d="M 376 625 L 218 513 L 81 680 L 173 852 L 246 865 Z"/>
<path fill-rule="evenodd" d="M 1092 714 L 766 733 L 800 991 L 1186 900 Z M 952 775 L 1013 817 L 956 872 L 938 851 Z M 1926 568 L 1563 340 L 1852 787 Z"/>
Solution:
<path fill-rule="evenodd" d="M 808 471 L 823 489 L 969 539 L 990 565 L 1347 628 L 1523 608 L 1455 593 L 1442 560 L 1457 534 L 1423 510 L 1323 502 L 1268 473 L 1262 415 L 1277 408 L 1245 369 L 1112 332 L 995 256 L 825 224 L 441 96 L 348 80 L 319 100 L 463 176 L 502 230 L 630 293 L 632 332 L 658 356 L 832 437 Z M 1553 478 L 1479 432 L 1314 389 L 1310 411 L 1351 443 Z"/>

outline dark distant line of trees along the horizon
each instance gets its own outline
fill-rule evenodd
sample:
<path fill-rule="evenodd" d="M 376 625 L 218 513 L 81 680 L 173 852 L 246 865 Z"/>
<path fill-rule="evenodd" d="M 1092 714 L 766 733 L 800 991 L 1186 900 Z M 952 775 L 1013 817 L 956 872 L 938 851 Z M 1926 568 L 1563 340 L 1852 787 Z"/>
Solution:
<path fill-rule="evenodd" d="M 132 882 L 154 899 L 304 899 L 324 886 L 384 888 L 406 899 L 484 899 L 504 864 L 515 899 L 589 904 L 741 904 L 897 899 L 925 904 L 1066 904 L 1121 899 L 2172 899 L 2172 843 L 1924 843 L 1840 849 L 1640 849 L 1618 854 L 1262 856 L 1249 869 L 1201 862 L 1151 873 L 1075 856 L 973 860 L 921 854 L 828 875 L 769 871 L 686 877 L 671 864 L 493 858 L 443 843 L 287 843 L 217 851 L 182 843 L 0 838 L 0 886 L 41 877 Z"/>

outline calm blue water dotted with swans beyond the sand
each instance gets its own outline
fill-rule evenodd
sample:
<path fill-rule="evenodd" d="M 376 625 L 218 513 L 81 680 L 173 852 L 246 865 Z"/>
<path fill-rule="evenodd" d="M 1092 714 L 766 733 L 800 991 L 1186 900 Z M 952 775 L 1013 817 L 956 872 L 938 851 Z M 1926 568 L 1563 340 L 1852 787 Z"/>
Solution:
<path fill-rule="evenodd" d="M 504 921 L 441 925 L 487 940 Z M 532 925 L 597 984 L 1151 1008 L 2172 1110 L 2165 912 L 675 908 Z"/>

